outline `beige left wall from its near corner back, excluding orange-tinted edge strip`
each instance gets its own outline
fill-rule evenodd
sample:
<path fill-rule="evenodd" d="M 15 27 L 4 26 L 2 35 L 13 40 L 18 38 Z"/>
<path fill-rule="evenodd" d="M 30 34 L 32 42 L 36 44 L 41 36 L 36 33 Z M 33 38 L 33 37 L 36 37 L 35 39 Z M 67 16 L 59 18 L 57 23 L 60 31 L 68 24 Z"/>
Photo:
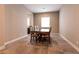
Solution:
<path fill-rule="evenodd" d="M 25 36 L 27 34 L 27 17 L 33 21 L 33 14 L 24 5 L 5 5 L 5 8 L 6 41 Z"/>

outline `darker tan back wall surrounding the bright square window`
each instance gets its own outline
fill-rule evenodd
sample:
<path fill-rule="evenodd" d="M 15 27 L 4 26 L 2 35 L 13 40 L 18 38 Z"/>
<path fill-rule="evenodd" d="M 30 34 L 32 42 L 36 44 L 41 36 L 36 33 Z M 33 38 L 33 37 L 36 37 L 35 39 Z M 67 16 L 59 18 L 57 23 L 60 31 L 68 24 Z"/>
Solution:
<path fill-rule="evenodd" d="M 59 12 L 36 13 L 34 14 L 34 25 L 41 26 L 41 17 L 50 16 L 50 24 L 53 33 L 59 32 Z"/>

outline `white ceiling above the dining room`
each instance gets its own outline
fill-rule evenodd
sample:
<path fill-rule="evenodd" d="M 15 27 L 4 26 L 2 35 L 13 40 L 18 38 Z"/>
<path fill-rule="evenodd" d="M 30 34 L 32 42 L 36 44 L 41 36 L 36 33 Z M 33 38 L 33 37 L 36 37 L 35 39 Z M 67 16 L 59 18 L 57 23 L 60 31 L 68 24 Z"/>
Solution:
<path fill-rule="evenodd" d="M 25 7 L 33 13 L 59 11 L 61 4 L 25 4 Z"/>

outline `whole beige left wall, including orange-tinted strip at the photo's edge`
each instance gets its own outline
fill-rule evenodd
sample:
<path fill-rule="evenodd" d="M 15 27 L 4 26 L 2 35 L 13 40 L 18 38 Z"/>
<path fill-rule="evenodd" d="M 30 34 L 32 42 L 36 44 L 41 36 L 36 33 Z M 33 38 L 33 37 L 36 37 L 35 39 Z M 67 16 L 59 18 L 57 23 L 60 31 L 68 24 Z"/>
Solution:
<path fill-rule="evenodd" d="M 0 46 L 27 34 L 27 17 L 33 26 L 33 14 L 24 5 L 0 5 Z"/>

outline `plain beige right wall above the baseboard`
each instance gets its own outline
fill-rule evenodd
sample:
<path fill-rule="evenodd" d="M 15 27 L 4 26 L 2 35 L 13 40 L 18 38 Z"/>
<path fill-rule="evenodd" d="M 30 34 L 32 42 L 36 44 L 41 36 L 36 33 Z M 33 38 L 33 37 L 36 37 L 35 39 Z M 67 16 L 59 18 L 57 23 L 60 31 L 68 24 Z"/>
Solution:
<path fill-rule="evenodd" d="M 60 33 L 79 47 L 79 5 L 64 5 L 59 22 Z"/>

